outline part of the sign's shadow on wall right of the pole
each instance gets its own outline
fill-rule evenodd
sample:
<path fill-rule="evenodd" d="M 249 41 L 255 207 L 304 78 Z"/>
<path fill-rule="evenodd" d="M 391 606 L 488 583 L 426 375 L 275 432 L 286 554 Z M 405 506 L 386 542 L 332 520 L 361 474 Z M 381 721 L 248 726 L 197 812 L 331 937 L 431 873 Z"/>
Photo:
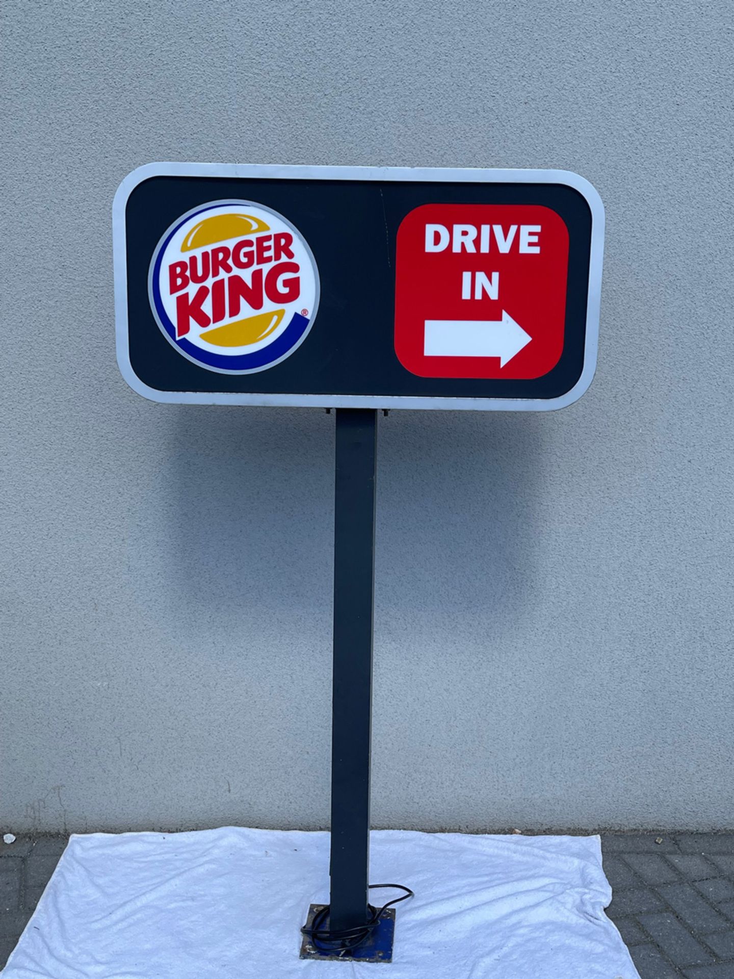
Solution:
<path fill-rule="evenodd" d="M 534 415 L 390 415 L 382 429 L 378 605 L 392 629 L 456 624 L 493 637 L 528 607 L 541 422 Z"/>

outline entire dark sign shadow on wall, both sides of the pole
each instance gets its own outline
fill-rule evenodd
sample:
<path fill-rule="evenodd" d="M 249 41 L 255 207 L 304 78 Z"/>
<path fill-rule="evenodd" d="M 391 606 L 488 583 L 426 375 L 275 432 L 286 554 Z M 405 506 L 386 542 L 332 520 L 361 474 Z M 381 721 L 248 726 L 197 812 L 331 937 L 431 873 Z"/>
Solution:
<path fill-rule="evenodd" d="M 471 615 L 496 635 L 523 618 L 542 421 L 380 414 L 378 629 L 384 614 L 395 629 L 417 622 L 450 635 Z M 197 618 L 255 636 L 277 619 L 330 618 L 334 422 L 318 409 L 179 410 L 171 566 Z"/>

